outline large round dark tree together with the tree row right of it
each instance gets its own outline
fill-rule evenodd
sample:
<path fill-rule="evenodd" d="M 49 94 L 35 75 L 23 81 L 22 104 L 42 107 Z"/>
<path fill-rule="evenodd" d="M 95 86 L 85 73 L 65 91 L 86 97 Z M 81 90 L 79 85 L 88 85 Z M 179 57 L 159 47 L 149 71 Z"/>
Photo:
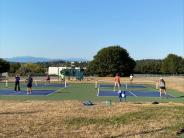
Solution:
<path fill-rule="evenodd" d="M 98 76 L 121 76 L 130 74 L 184 74 L 184 58 L 169 54 L 164 59 L 134 60 L 120 46 L 102 48 L 88 64 L 88 74 Z"/>

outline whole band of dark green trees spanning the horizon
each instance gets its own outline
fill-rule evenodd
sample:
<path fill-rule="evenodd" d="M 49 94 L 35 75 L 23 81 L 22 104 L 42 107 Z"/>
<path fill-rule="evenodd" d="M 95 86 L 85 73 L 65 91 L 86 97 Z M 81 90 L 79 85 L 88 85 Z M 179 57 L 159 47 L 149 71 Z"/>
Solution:
<path fill-rule="evenodd" d="M 74 62 L 72 65 L 87 69 L 85 75 L 129 76 L 133 73 L 139 74 L 184 74 L 184 58 L 175 54 L 169 54 L 164 59 L 134 60 L 128 51 L 118 45 L 102 48 L 90 62 Z M 44 75 L 49 66 L 70 67 L 71 62 L 50 61 L 39 63 L 9 63 L 0 59 L 0 73 L 9 72 L 20 75 Z"/>

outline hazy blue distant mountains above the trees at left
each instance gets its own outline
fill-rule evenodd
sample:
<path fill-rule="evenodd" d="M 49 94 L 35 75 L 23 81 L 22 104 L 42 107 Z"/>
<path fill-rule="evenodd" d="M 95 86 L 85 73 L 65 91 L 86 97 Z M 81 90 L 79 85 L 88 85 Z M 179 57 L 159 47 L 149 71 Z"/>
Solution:
<path fill-rule="evenodd" d="M 12 58 L 4 58 L 9 62 L 20 62 L 20 63 L 27 63 L 27 62 L 49 62 L 49 61 L 87 61 L 86 59 L 82 58 L 65 58 L 65 59 L 49 59 L 44 57 L 32 57 L 32 56 L 20 56 L 20 57 L 12 57 Z"/>

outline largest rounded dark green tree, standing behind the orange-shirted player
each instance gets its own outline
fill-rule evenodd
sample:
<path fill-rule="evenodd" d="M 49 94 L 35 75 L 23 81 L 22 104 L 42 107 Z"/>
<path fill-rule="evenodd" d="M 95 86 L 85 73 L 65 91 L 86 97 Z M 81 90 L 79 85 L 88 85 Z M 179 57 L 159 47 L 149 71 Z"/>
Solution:
<path fill-rule="evenodd" d="M 133 72 L 135 61 L 126 49 L 120 46 L 110 46 L 101 49 L 88 65 L 88 74 L 99 76 L 114 76 L 117 72 L 129 75 Z"/>

